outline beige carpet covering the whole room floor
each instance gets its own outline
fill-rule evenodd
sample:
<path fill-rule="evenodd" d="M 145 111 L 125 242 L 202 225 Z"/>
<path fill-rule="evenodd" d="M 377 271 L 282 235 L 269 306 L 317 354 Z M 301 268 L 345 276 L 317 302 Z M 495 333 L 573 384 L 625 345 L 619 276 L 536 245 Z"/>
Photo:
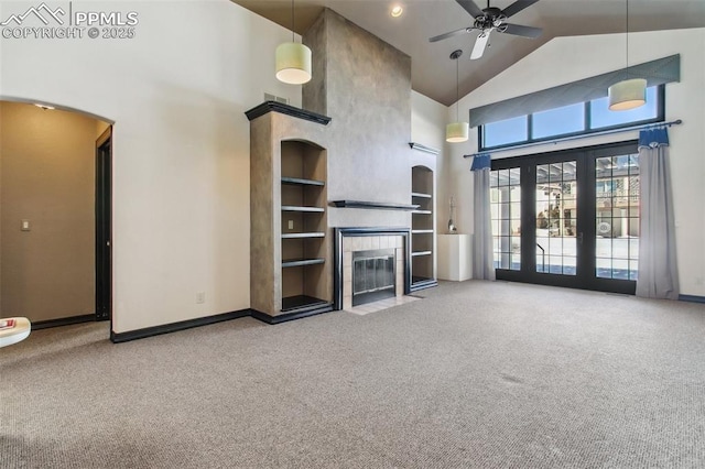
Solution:
<path fill-rule="evenodd" d="M 705 467 L 705 306 L 509 283 L 0 350 L 2 468 Z M 149 312 L 144 312 L 149 314 Z"/>

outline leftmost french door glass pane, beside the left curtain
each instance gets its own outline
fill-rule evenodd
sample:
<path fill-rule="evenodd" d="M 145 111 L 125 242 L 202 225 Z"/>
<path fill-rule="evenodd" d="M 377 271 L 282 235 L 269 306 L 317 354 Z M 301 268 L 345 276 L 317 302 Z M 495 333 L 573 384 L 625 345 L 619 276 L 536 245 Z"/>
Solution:
<path fill-rule="evenodd" d="M 495 269 L 521 270 L 521 185 L 518 167 L 490 173 L 490 209 Z"/>

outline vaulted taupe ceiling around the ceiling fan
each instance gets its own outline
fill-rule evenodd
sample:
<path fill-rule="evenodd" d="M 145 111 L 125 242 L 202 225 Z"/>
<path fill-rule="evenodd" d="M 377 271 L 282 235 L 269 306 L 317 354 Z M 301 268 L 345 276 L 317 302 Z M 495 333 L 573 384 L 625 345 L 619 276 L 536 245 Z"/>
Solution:
<path fill-rule="evenodd" d="M 231 1 L 291 29 L 290 0 Z M 404 13 L 392 18 L 389 11 L 397 3 Z M 476 3 L 487 7 L 486 0 Z M 490 1 L 500 9 L 511 3 L 513 0 Z M 627 19 L 621 0 L 540 0 L 510 19 L 511 23 L 543 28 L 539 39 L 492 33 L 490 48 L 480 59 L 470 61 L 477 33 L 429 42 L 429 37 L 473 24 L 455 0 L 295 0 L 294 7 L 299 34 L 327 7 L 410 55 L 412 88 L 446 106 L 456 100 L 456 64 L 449 55 L 457 48 L 463 50 L 459 96 L 465 96 L 553 37 L 625 32 Z M 703 26 L 705 0 L 629 0 L 630 32 Z"/>

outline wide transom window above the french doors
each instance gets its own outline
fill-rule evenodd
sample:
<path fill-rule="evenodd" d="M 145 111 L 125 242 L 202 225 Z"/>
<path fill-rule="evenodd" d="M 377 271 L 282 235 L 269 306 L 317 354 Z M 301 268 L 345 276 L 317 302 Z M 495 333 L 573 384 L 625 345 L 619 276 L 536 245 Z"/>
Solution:
<path fill-rule="evenodd" d="M 479 126 L 480 151 L 660 122 L 665 118 L 664 85 L 647 88 L 647 103 L 629 111 L 610 111 L 607 99 L 593 99 Z"/>

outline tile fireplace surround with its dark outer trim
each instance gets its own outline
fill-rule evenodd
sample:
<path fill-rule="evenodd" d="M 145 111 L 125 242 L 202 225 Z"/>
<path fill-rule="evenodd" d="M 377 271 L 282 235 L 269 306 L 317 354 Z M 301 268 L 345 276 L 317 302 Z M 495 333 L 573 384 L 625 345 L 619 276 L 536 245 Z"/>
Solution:
<path fill-rule="evenodd" d="M 352 252 L 393 249 L 397 296 L 409 294 L 411 280 L 409 228 L 336 228 L 334 309 L 352 307 Z"/>

